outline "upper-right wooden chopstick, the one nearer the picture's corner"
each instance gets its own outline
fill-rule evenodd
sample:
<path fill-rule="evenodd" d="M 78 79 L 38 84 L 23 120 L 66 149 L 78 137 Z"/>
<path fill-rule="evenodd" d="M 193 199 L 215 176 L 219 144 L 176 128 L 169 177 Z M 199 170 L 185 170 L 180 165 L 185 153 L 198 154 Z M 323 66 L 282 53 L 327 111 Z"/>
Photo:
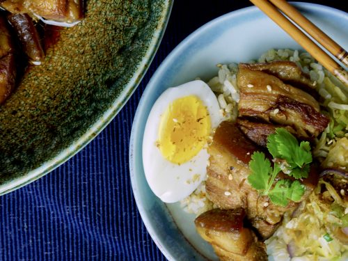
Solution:
<path fill-rule="evenodd" d="M 301 15 L 294 6 L 287 3 L 285 0 L 269 0 L 271 3 L 281 10 L 287 17 L 292 19 L 292 22 L 300 26 L 303 31 L 312 36 L 320 45 L 327 49 L 339 61 L 348 66 L 348 53 L 345 49 L 340 47 L 337 42 L 332 40 L 326 33 L 317 28 L 313 22 L 310 22 L 306 17 Z"/>

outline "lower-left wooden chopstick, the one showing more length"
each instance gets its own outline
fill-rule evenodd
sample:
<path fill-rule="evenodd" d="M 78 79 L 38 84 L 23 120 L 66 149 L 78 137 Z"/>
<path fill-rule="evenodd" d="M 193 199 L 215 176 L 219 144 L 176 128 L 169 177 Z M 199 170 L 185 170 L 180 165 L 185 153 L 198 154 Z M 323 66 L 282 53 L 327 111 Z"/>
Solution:
<path fill-rule="evenodd" d="M 298 29 L 289 19 L 287 19 L 278 9 L 267 0 L 250 0 L 255 6 L 258 6 L 269 18 L 278 26 L 286 31 L 296 42 L 299 43 L 310 53 L 324 68 L 329 70 L 337 77 L 346 87 L 348 87 L 348 74 L 344 68 L 336 63 L 331 56 L 326 54 L 315 42 L 310 40 L 306 34 Z"/>

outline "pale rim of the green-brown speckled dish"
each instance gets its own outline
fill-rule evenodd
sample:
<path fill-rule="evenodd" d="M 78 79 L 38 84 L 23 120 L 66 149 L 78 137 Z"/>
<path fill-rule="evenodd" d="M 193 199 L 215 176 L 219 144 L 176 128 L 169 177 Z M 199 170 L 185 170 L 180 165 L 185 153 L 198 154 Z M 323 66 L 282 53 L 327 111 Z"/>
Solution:
<path fill-rule="evenodd" d="M 68 148 L 63 149 L 58 153 L 58 155 L 55 155 L 51 159 L 48 159 L 41 166 L 34 168 L 25 175 L 16 177 L 1 184 L 0 196 L 24 187 L 25 185 L 30 184 L 31 182 L 38 180 L 40 177 L 43 177 L 48 173 L 54 171 L 55 168 L 61 166 L 61 164 L 63 164 L 65 161 L 68 161 L 86 145 L 88 145 L 88 143 L 90 143 L 90 141 L 92 141 L 95 136 L 100 134 L 100 132 L 102 132 L 102 130 L 107 125 L 109 125 L 111 120 L 113 120 L 113 118 L 117 116 L 122 107 L 125 106 L 129 98 L 139 86 L 141 80 L 145 76 L 145 73 L 148 71 L 148 68 L 150 68 L 150 64 L 155 58 L 157 49 L 159 48 L 163 35 L 166 31 L 166 26 L 168 24 L 171 10 L 173 8 L 173 2 L 174 0 L 163 1 L 164 8 L 161 10 L 161 19 L 159 19 L 159 21 L 157 22 L 156 29 L 152 33 L 152 39 L 150 40 L 148 49 L 141 61 L 137 64 L 137 68 L 132 75 L 132 78 L 130 78 L 128 83 L 123 87 L 120 95 L 118 95 L 116 100 L 113 101 L 109 109 L 105 111 L 93 125 L 88 127 L 84 135 L 79 137 L 79 139 L 73 141 Z"/>

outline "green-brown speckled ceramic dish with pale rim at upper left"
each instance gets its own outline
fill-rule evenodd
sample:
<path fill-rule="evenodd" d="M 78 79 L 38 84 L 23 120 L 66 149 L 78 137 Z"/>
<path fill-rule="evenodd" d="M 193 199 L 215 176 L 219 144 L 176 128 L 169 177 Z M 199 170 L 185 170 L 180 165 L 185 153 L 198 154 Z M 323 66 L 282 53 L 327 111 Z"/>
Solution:
<path fill-rule="evenodd" d="M 116 116 L 152 61 L 171 0 L 89 0 L 0 106 L 0 194 L 63 163 Z"/>

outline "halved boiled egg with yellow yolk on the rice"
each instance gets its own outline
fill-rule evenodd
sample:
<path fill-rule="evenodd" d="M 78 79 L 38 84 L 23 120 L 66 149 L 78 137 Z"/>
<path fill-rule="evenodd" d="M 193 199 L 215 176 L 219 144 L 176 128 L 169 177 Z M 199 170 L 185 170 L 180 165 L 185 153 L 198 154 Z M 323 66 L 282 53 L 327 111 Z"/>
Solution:
<path fill-rule="evenodd" d="M 223 120 L 204 81 L 168 88 L 152 106 L 143 136 L 143 167 L 152 191 L 165 203 L 189 196 L 205 179 L 207 144 Z"/>

